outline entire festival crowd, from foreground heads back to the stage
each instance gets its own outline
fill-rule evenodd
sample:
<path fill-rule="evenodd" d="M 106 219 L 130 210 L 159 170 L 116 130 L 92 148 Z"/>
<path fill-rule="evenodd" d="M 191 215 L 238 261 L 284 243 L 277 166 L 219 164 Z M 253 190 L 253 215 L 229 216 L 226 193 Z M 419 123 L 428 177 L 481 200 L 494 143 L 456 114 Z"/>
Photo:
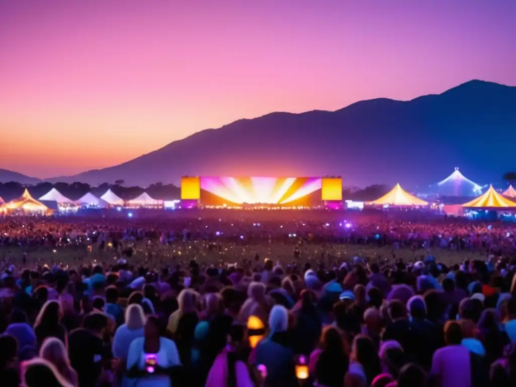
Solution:
<path fill-rule="evenodd" d="M 406 215 L 294 218 L 2 219 L 0 384 L 516 385 L 514 227 Z M 231 262 L 181 255 L 198 240 L 244 253 Z M 275 244 L 292 248 L 288 260 L 270 248 L 254 253 Z M 386 245 L 393 254 L 299 253 L 310 244 Z M 137 261 L 142 245 L 149 256 L 177 246 L 177 255 Z M 83 255 L 56 262 L 56 249 L 68 248 Z M 475 250 L 483 259 L 396 255 L 414 248 Z M 35 249 L 49 259 L 31 260 Z M 111 261 L 94 259 L 106 251 Z"/>

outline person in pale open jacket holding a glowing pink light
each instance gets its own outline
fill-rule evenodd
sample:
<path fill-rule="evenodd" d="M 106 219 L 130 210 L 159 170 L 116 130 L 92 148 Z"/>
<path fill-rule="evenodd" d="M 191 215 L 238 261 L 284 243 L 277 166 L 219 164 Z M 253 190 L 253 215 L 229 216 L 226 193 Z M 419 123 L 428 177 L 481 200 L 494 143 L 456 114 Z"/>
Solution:
<path fill-rule="evenodd" d="M 127 354 L 127 376 L 134 382 L 127 385 L 169 387 L 177 373 L 174 369 L 181 366 L 178 348 L 175 343 L 160 333 L 159 319 L 149 316 L 143 337 L 133 340 Z"/>

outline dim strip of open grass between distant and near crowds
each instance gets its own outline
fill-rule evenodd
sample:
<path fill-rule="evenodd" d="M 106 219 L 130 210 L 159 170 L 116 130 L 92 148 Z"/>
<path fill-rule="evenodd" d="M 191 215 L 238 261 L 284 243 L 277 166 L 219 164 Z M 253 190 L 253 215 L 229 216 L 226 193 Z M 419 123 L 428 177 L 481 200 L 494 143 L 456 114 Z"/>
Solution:
<path fill-rule="evenodd" d="M 294 257 L 294 244 L 261 244 L 261 245 L 235 245 L 225 244 L 218 249 L 210 250 L 203 241 L 191 243 L 178 242 L 174 245 L 153 245 L 148 246 L 144 243 L 134 246 L 135 253 L 127 261 L 134 265 L 144 265 L 150 268 L 165 267 L 178 263 L 187 263 L 196 259 L 199 263 L 206 265 L 234 264 L 242 262 L 244 259 L 252 260 L 255 255 L 260 256 L 260 261 L 266 257 L 274 262 L 283 265 L 297 261 L 298 263 L 313 262 L 317 264 L 324 254 L 324 262 L 327 267 L 338 265 L 344 260 L 350 260 L 354 256 L 368 257 L 371 261 L 392 259 L 393 254 L 401 257 L 405 262 L 423 259 L 426 255 L 436 257 L 437 262 L 445 265 L 461 263 L 463 260 L 486 259 L 486 253 L 480 251 L 453 251 L 444 249 L 433 249 L 430 251 L 410 249 L 392 250 L 390 246 L 374 245 L 341 245 L 341 244 L 304 244 L 299 248 L 300 258 Z M 105 251 L 99 251 L 96 246 L 92 246 L 91 252 L 86 246 L 66 246 L 53 248 L 43 247 L 3 247 L 0 248 L 4 266 L 15 264 L 23 266 L 23 254 L 27 252 L 27 267 L 34 267 L 36 264 L 62 264 L 69 267 L 79 264 L 96 264 L 104 262 L 107 265 L 117 262 L 119 252 L 107 247 Z"/>

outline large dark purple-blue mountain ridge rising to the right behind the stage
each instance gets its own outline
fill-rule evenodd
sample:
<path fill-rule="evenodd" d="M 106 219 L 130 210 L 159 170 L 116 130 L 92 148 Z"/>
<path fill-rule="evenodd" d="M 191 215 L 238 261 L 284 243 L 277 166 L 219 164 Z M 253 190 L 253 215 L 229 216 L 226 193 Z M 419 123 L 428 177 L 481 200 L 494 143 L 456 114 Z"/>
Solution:
<path fill-rule="evenodd" d="M 432 184 L 454 167 L 484 184 L 516 167 L 516 87 L 472 80 L 411 101 L 275 112 L 174 141 L 126 163 L 51 181 L 178 183 L 182 175 L 342 175 L 345 185 Z"/>

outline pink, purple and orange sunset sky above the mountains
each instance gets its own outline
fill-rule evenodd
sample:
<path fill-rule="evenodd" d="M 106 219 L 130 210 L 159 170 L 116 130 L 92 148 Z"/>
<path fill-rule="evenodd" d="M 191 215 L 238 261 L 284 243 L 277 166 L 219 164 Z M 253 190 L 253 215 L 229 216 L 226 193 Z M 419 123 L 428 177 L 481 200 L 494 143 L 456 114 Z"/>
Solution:
<path fill-rule="evenodd" d="M 0 168 L 112 166 L 271 111 L 516 85 L 513 0 L 0 0 Z"/>

